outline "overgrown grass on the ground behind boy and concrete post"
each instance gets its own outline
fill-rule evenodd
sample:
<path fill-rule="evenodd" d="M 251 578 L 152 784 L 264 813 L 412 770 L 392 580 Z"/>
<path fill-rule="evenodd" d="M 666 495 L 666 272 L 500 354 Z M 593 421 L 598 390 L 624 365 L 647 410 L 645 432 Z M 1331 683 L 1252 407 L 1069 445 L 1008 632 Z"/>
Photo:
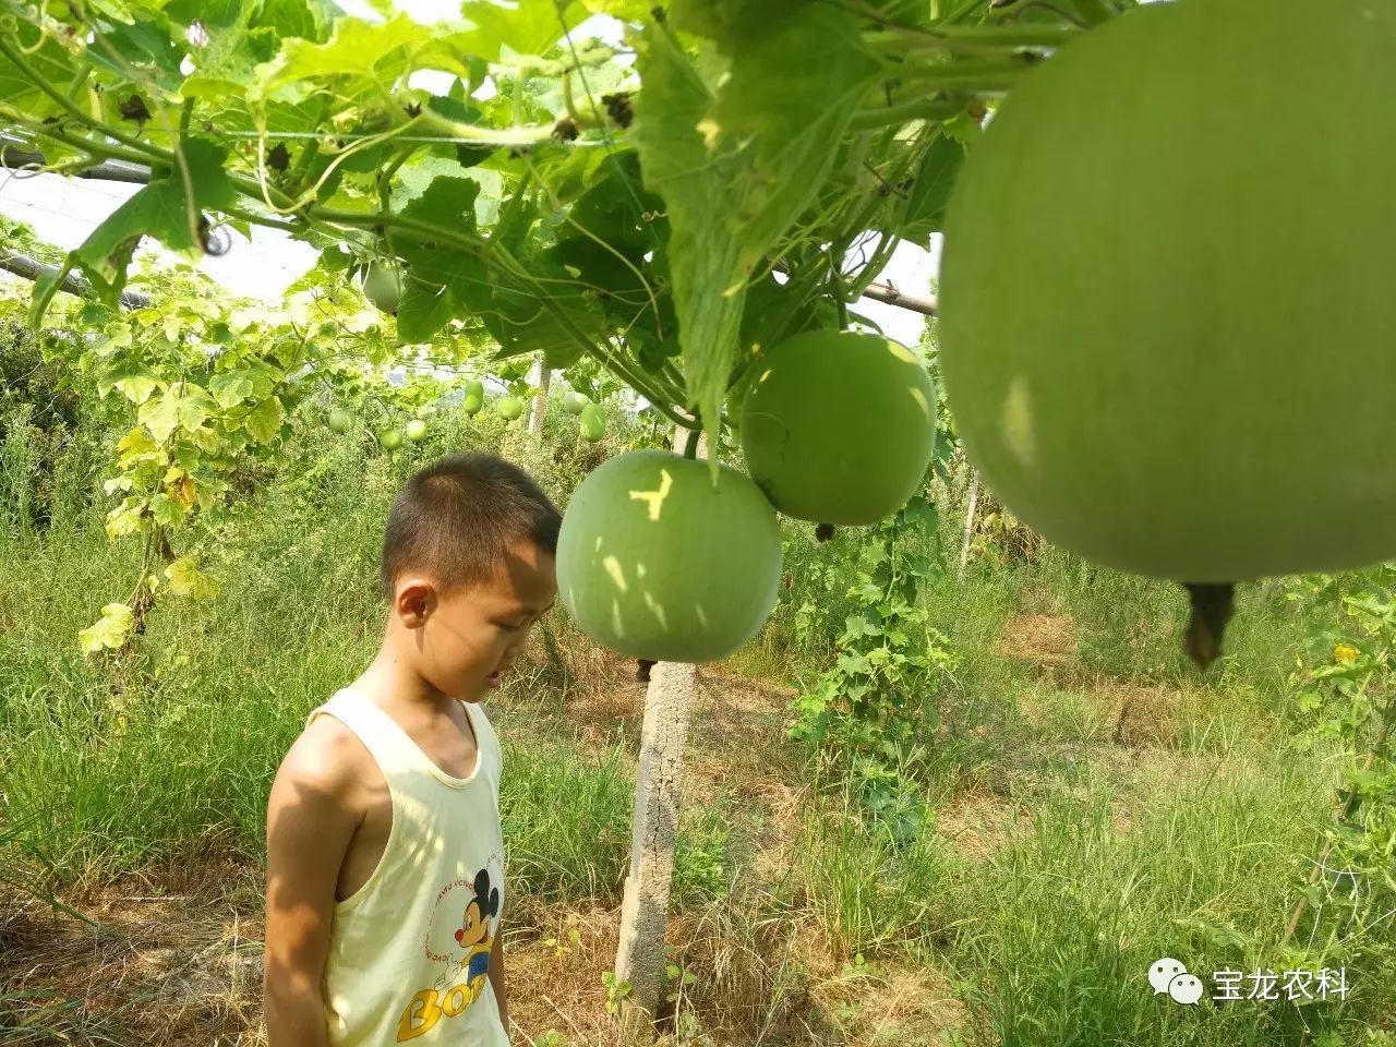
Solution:
<path fill-rule="evenodd" d="M 443 440 L 456 443 L 417 461 L 483 441 L 560 500 L 584 469 L 515 431 L 461 423 Z M 0 984 L 14 980 L 0 990 L 0 1033 L 22 1015 L 47 1039 L 21 1041 L 176 1043 L 130 1032 L 176 1007 L 158 995 L 166 974 L 151 967 L 126 997 L 98 1001 L 64 991 L 64 972 L 138 970 L 154 948 L 142 942 L 181 934 L 174 951 L 221 958 L 209 969 L 255 952 L 271 775 L 310 709 L 376 651 L 377 543 L 412 463 L 366 456 L 350 438 L 311 444 L 265 479 L 205 543 L 222 593 L 159 604 L 144 685 L 128 692 L 75 641 L 130 589 L 128 544 L 107 542 L 98 510 L 0 535 L 0 871 L 18 899 L 0 917 L 0 956 L 14 958 L 0 959 Z M 1279 942 L 1333 779 L 1291 744 L 1287 674 L 1321 610 L 1244 589 L 1226 658 L 1199 676 L 1180 652 L 1175 586 L 1051 549 L 946 572 L 923 603 L 958 663 L 923 738 L 921 829 L 896 846 L 853 783 L 818 778 L 782 734 L 790 688 L 828 664 L 847 611 L 839 563 L 859 540 L 818 544 L 787 525 L 790 588 L 772 621 L 705 669 L 716 697 L 690 732 L 670 909 L 676 969 L 695 980 L 676 990 L 671 1039 L 1375 1047 L 1396 1034 L 1390 942 L 1351 945 L 1360 991 L 1344 1005 L 1180 1008 L 1145 983 L 1161 955 L 1203 972 L 1301 958 Z M 549 1029 L 557 1044 L 613 1043 L 599 974 L 628 868 L 644 688 L 560 614 L 522 669 L 490 708 L 519 906 L 511 1009 L 530 1043 Z M 141 895 L 232 884 L 232 916 L 181 931 L 172 906 L 123 923 L 135 919 L 137 903 L 120 902 L 133 877 Z M 36 923 L 47 917 L 27 895 L 47 892 L 101 910 L 126 944 L 94 960 L 82 924 Z M 1372 934 L 1392 934 L 1390 921 Z M 198 983 L 194 1007 L 228 1041 L 258 1043 L 257 979 L 240 977 L 236 991 Z"/>

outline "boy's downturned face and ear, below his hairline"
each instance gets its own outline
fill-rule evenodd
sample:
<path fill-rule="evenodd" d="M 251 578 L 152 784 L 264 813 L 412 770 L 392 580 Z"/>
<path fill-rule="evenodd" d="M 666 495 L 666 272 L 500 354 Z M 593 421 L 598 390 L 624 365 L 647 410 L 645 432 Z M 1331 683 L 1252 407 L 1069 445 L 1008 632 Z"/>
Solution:
<path fill-rule="evenodd" d="M 510 549 L 493 577 L 444 599 L 430 584 L 403 581 L 396 610 L 413 632 L 417 671 L 441 694 L 466 702 L 500 685 L 533 623 L 557 599 L 553 556 L 528 539 Z"/>

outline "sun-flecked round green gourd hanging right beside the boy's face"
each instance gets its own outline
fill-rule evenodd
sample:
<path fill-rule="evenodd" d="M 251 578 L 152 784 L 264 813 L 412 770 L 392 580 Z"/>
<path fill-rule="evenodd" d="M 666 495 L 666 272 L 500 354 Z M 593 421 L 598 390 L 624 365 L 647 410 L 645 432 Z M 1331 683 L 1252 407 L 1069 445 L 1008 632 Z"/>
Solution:
<path fill-rule="evenodd" d="M 757 634 L 780 582 L 780 528 L 757 486 L 667 451 L 631 451 L 572 494 L 557 542 L 563 606 L 621 655 L 713 662 Z"/>

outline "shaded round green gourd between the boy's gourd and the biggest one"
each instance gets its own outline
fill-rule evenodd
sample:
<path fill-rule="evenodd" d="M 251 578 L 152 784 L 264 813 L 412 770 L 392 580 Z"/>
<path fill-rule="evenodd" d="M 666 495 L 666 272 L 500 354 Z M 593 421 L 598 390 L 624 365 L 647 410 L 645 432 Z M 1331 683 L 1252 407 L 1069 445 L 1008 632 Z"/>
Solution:
<path fill-rule="evenodd" d="M 807 331 L 757 362 L 741 450 L 771 504 L 857 526 L 906 504 L 935 445 L 935 388 L 916 355 L 881 335 Z"/>

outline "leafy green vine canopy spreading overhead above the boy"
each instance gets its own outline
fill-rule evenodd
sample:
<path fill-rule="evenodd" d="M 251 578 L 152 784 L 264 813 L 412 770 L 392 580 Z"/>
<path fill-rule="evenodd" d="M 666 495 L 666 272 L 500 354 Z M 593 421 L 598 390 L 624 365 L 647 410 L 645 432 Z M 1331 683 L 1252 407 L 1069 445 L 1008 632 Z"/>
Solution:
<path fill-rule="evenodd" d="M 401 267 L 405 341 L 469 317 L 501 357 L 589 356 L 713 434 L 762 345 L 863 295 L 933 314 L 875 278 L 938 228 L 984 101 L 1100 6 L 1076 7 L 476 0 L 426 27 L 313 0 L 7 3 L 7 165 L 148 172 L 32 317 L 73 274 L 114 303 L 142 236 L 197 253 L 265 225 L 346 276 Z M 592 14 L 624 43 L 579 38 Z"/>

